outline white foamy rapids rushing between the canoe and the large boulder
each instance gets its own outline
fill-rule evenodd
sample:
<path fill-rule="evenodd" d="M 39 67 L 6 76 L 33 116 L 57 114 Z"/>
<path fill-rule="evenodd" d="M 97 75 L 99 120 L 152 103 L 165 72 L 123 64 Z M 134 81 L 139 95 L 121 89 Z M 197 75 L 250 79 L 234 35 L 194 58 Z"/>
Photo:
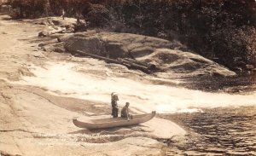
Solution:
<path fill-rule="evenodd" d="M 33 85 L 49 93 L 85 100 L 110 102 L 110 94 L 119 94 L 119 104 L 126 101 L 143 112 L 183 113 L 200 111 L 202 107 L 256 106 L 256 94 L 230 95 L 188 90 L 165 85 L 143 84 L 126 78 L 101 78 L 77 72 L 79 64 L 49 62 L 45 68 L 32 66 L 35 77 L 22 77 L 15 84 Z"/>

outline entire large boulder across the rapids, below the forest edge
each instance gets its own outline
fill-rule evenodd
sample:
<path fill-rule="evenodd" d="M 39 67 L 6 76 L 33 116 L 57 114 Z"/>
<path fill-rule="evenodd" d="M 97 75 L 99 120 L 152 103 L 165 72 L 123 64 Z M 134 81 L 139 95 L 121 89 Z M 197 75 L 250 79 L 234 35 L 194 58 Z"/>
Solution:
<path fill-rule="evenodd" d="M 63 43 L 66 52 L 73 55 L 81 54 L 77 52 L 81 50 L 112 59 L 135 58 L 143 65 L 155 65 L 158 69 L 155 74 L 160 78 L 236 75 L 235 72 L 201 55 L 179 50 L 186 48 L 181 43 L 160 38 L 129 33 L 89 31 L 58 38 L 58 42 Z"/>

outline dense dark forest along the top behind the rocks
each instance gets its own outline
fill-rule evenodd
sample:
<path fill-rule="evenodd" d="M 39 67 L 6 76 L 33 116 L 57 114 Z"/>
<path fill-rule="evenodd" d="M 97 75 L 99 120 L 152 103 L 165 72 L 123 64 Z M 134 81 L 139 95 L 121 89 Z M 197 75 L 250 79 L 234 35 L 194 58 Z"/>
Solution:
<path fill-rule="evenodd" d="M 256 66 L 254 0 L 9 0 L 14 18 L 84 17 L 90 27 L 178 40 L 231 69 Z"/>

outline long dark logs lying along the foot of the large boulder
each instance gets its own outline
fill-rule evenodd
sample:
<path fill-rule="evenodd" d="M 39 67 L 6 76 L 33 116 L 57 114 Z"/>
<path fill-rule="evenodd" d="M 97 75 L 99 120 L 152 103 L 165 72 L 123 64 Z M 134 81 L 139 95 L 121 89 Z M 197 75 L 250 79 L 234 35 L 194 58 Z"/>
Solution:
<path fill-rule="evenodd" d="M 107 57 L 104 57 L 104 56 L 100 56 L 100 55 L 92 55 L 92 54 L 86 53 L 86 52 L 81 51 L 81 50 L 77 50 L 76 53 L 81 55 L 81 56 L 90 56 L 92 58 L 104 60 L 104 61 L 107 61 L 107 62 L 110 62 L 110 63 L 116 63 L 116 64 L 124 65 L 124 66 L 127 66 L 128 68 L 138 69 L 138 70 L 141 70 L 141 71 L 146 72 L 146 73 L 151 73 L 152 72 L 150 69 L 148 69 L 147 66 L 138 65 L 136 63 L 133 63 L 133 62 L 130 62 L 130 61 L 125 61 L 124 59 L 120 59 L 120 58 L 119 58 L 119 60 L 113 60 L 113 59 L 110 59 L 110 58 L 107 58 Z"/>

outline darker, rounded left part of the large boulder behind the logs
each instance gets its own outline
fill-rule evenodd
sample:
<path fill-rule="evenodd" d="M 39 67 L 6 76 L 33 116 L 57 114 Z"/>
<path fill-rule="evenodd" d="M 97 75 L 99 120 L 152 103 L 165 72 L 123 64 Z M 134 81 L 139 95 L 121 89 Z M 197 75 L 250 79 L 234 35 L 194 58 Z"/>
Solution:
<path fill-rule="evenodd" d="M 150 55 L 155 49 L 184 48 L 181 43 L 171 42 L 160 38 L 151 38 L 130 33 L 79 32 L 65 38 L 65 49 L 70 53 L 76 50 L 116 58 L 139 58 Z"/>

